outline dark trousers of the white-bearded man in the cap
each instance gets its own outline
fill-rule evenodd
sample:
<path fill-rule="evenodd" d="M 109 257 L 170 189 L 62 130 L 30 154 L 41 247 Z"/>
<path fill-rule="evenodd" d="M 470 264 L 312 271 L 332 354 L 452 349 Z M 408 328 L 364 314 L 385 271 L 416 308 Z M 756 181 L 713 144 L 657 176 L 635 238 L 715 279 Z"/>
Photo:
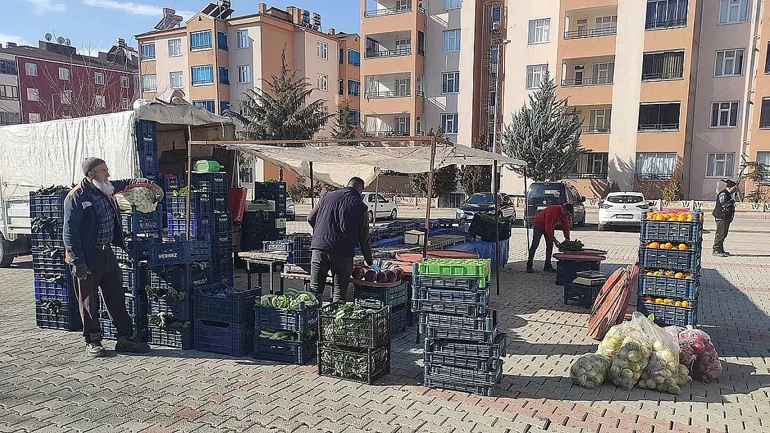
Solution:
<path fill-rule="evenodd" d="M 91 275 L 85 280 L 75 278 L 75 291 L 83 319 L 83 337 L 86 342 L 102 339 L 102 324 L 99 322 L 99 291 L 102 292 L 109 319 L 115 326 L 118 337 L 129 337 L 133 333 L 133 322 L 126 311 L 126 294 L 123 293 L 123 275 L 112 249 L 96 250 L 91 262 Z"/>

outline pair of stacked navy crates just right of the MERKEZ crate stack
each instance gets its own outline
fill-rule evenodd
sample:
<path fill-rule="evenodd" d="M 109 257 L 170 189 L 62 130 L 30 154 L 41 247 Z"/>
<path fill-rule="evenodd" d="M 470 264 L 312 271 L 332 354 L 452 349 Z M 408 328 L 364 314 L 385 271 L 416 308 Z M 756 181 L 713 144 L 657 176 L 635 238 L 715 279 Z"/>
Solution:
<path fill-rule="evenodd" d="M 199 351 L 246 355 L 254 343 L 254 305 L 261 288 L 239 290 L 215 282 L 195 290 L 194 336 Z"/>

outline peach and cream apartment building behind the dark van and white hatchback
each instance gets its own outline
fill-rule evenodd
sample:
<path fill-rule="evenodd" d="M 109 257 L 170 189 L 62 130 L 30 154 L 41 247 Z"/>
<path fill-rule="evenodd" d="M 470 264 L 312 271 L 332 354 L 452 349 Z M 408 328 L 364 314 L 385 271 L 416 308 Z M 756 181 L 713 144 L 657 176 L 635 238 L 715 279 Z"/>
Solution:
<path fill-rule="evenodd" d="M 658 192 L 680 168 L 690 198 L 737 175 L 751 130 L 758 0 L 542 0 L 507 10 L 505 122 L 546 68 L 583 119 L 581 194 Z M 508 173 L 504 185 L 521 188 Z"/>

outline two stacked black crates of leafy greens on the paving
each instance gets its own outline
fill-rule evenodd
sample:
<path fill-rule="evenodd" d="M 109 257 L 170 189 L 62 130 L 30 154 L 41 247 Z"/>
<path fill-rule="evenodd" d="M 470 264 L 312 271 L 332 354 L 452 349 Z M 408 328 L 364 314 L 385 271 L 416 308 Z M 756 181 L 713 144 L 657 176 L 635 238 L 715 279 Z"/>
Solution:
<path fill-rule="evenodd" d="M 372 384 L 390 373 L 390 306 L 360 317 L 333 302 L 318 310 L 318 374 Z"/>

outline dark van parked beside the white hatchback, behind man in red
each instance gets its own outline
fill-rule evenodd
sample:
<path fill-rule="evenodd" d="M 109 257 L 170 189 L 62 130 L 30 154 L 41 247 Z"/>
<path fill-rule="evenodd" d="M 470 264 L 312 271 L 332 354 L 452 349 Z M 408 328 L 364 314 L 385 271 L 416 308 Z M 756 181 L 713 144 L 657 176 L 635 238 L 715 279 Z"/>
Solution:
<path fill-rule="evenodd" d="M 577 192 L 577 188 L 567 182 L 535 182 L 527 190 L 524 226 L 534 225 L 534 218 L 544 208 L 551 205 L 561 206 L 565 203 L 571 203 L 575 209 L 570 226 L 585 225 L 585 197 Z"/>

